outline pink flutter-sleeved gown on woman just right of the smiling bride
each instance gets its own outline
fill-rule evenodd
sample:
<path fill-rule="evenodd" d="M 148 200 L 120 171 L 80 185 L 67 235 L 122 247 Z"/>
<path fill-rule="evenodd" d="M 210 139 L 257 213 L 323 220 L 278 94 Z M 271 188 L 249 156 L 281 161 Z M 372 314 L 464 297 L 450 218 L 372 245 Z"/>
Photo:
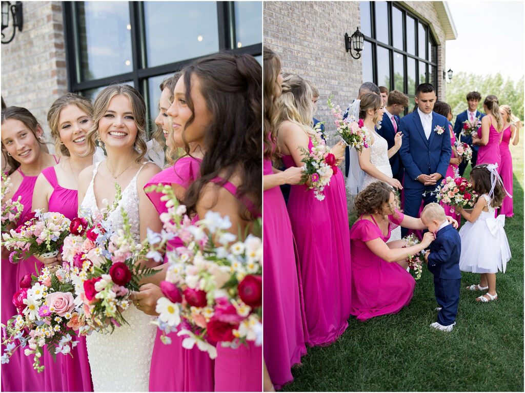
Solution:
<path fill-rule="evenodd" d="M 201 160 L 193 157 L 182 157 L 169 168 L 164 169 L 151 178 L 144 186 L 178 184 L 184 188 L 200 174 Z M 159 214 L 166 213 L 166 201 L 160 200 L 162 193 L 147 193 L 148 198 Z M 167 250 L 182 246 L 178 238 L 170 240 Z M 164 263 L 167 259 L 164 258 Z M 150 367 L 150 391 L 212 391 L 214 386 L 214 361 L 206 352 L 195 346 L 193 349 L 184 349 L 182 340 L 176 332 L 170 333 L 171 344 L 163 344 L 161 331 L 157 330 Z"/>

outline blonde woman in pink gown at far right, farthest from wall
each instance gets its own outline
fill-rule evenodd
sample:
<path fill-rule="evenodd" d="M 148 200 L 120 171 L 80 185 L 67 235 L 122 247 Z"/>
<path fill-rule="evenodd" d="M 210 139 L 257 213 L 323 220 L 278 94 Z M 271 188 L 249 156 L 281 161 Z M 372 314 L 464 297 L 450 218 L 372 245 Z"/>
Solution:
<path fill-rule="evenodd" d="M 499 145 L 499 152 L 501 154 L 501 166 L 499 174 L 503 180 L 503 185 L 507 192 L 512 195 L 512 156 L 509 150 L 509 144 L 516 146 L 520 141 L 520 133 L 518 129 L 519 119 L 512 115 L 509 105 L 501 105 L 499 108 L 501 117 L 503 118 L 503 133 L 501 143 Z M 518 124 L 518 125 L 517 125 Z M 512 208 L 512 198 L 505 196 L 503 203 L 499 208 L 499 214 L 505 214 L 506 217 L 514 215 Z"/>

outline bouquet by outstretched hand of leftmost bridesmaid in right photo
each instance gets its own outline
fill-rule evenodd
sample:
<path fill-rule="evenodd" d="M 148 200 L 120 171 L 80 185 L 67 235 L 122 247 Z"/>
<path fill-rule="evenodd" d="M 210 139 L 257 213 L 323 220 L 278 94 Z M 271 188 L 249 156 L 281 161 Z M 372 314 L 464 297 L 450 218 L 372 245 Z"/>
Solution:
<path fill-rule="evenodd" d="M 324 200 L 324 187 L 330 185 L 332 175 L 337 172 L 337 160 L 317 132 L 310 139 L 313 145 L 311 151 L 299 146 L 304 154 L 301 160 L 304 163 L 302 182 L 310 180 L 309 188 L 313 189 L 316 199 Z"/>

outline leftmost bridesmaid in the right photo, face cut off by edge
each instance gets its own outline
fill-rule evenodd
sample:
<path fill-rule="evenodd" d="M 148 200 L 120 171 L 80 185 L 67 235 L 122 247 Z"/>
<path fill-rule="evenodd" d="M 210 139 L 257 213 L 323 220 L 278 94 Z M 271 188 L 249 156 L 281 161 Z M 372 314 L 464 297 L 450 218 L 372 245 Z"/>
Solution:
<path fill-rule="evenodd" d="M 265 390 L 280 389 L 293 380 L 291 367 L 306 354 L 302 308 L 302 283 L 285 200 L 279 185 L 299 184 L 302 169 L 292 166 L 284 172 L 272 167 L 279 156 L 275 130 L 275 100 L 281 94 L 281 62 L 264 49 L 264 358 L 269 379 Z M 300 277 L 300 276 L 299 276 Z"/>

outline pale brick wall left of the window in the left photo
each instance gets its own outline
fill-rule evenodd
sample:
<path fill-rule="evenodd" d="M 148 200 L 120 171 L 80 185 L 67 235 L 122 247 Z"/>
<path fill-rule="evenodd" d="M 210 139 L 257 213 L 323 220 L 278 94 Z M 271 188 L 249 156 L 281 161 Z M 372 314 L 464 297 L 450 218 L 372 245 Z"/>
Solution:
<path fill-rule="evenodd" d="M 23 31 L 17 31 L 11 43 L 1 46 L 2 97 L 8 106 L 31 111 L 43 125 L 48 141 L 47 110 L 67 93 L 61 4 L 23 2 Z"/>

